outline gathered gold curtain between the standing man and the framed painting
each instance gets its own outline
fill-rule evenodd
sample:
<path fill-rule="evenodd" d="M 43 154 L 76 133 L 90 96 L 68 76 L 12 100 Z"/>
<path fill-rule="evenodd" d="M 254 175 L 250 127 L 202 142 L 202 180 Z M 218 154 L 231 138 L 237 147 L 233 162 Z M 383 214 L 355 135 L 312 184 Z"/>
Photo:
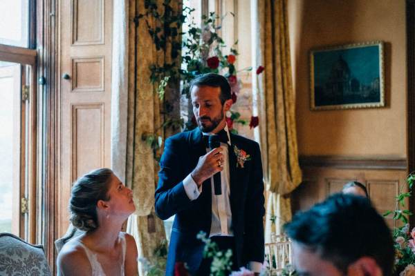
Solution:
<path fill-rule="evenodd" d="M 302 181 L 295 132 L 295 102 L 288 41 L 288 0 L 252 0 L 252 60 L 256 137 L 261 144 L 266 182 L 266 242 L 291 220 L 291 193 Z"/>

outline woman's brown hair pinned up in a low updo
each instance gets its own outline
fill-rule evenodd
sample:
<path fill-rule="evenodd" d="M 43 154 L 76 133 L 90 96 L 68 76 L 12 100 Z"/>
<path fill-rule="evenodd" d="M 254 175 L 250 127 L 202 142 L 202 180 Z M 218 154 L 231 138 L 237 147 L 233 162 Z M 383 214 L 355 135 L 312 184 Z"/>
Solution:
<path fill-rule="evenodd" d="M 83 175 L 72 187 L 69 210 L 73 226 L 86 232 L 98 228 L 98 200 L 108 201 L 107 195 L 113 171 L 99 168 Z"/>

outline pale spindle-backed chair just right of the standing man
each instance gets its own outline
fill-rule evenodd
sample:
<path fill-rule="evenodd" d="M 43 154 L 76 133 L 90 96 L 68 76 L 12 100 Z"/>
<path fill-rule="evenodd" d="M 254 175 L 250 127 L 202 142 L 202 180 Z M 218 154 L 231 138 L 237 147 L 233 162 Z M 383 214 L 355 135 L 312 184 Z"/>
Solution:
<path fill-rule="evenodd" d="M 265 259 L 270 275 L 280 275 L 284 268 L 291 269 L 291 241 L 286 235 L 271 237 L 271 242 L 265 244 Z"/>

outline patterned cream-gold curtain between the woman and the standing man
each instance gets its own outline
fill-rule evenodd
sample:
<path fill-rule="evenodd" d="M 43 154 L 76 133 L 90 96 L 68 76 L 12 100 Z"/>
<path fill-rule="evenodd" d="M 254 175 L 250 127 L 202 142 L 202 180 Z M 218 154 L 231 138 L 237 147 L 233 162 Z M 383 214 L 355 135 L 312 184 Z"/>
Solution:
<path fill-rule="evenodd" d="M 160 9 L 163 0 L 156 1 Z M 176 10 L 181 6 L 170 4 Z M 127 232 L 136 238 L 140 257 L 152 259 L 154 249 L 166 238 L 163 221 L 154 213 L 154 190 L 157 184 L 158 161 L 152 148 L 143 141 L 142 135 L 156 133 L 165 136 L 162 115 L 163 102 L 156 94 L 158 83 L 149 82 L 149 66 L 156 62 L 170 63 L 169 55 L 157 52 L 147 30 L 144 19 L 133 20 L 138 14 L 145 13 L 145 1 L 129 0 L 129 82 L 127 108 L 127 162 L 126 183 L 133 188 L 136 213 L 129 218 Z M 150 25 L 156 24 L 154 19 L 148 19 Z M 178 37 L 177 39 L 181 39 Z M 174 101 L 175 89 L 166 89 L 165 101 Z M 180 92 L 177 90 L 177 94 Z M 176 103 L 178 106 L 178 102 Z M 170 134 L 170 133 L 169 133 Z M 157 152 L 160 153 L 160 152 Z M 142 266 L 139 263 L 140 275 Z"/>

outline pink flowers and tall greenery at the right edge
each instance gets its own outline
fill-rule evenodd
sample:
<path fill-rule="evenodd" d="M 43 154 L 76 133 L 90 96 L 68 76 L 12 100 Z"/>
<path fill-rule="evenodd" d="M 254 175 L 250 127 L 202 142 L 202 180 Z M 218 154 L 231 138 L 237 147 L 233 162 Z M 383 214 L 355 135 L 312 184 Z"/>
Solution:
<path fill-rule="evenodd" d="M 409 230 L 409 216 L 412 213 L 409 210 L 402 209 L 405 207 L 405 201 L 411 197 L 412 186 L 414 185 L 415 175 L 410 174 L 407 177 L 409 190 L 403 192 L 402 188 L 396 196 L 396 210 L 387 211 L 383 214 L 393 215 L 395 224 L 400 221 L 404 226 L 395 226 L 394 228 L 394 248 L 395 248 L 395 268 L 394 275 L 415 276 L 415 228 Z"/>

